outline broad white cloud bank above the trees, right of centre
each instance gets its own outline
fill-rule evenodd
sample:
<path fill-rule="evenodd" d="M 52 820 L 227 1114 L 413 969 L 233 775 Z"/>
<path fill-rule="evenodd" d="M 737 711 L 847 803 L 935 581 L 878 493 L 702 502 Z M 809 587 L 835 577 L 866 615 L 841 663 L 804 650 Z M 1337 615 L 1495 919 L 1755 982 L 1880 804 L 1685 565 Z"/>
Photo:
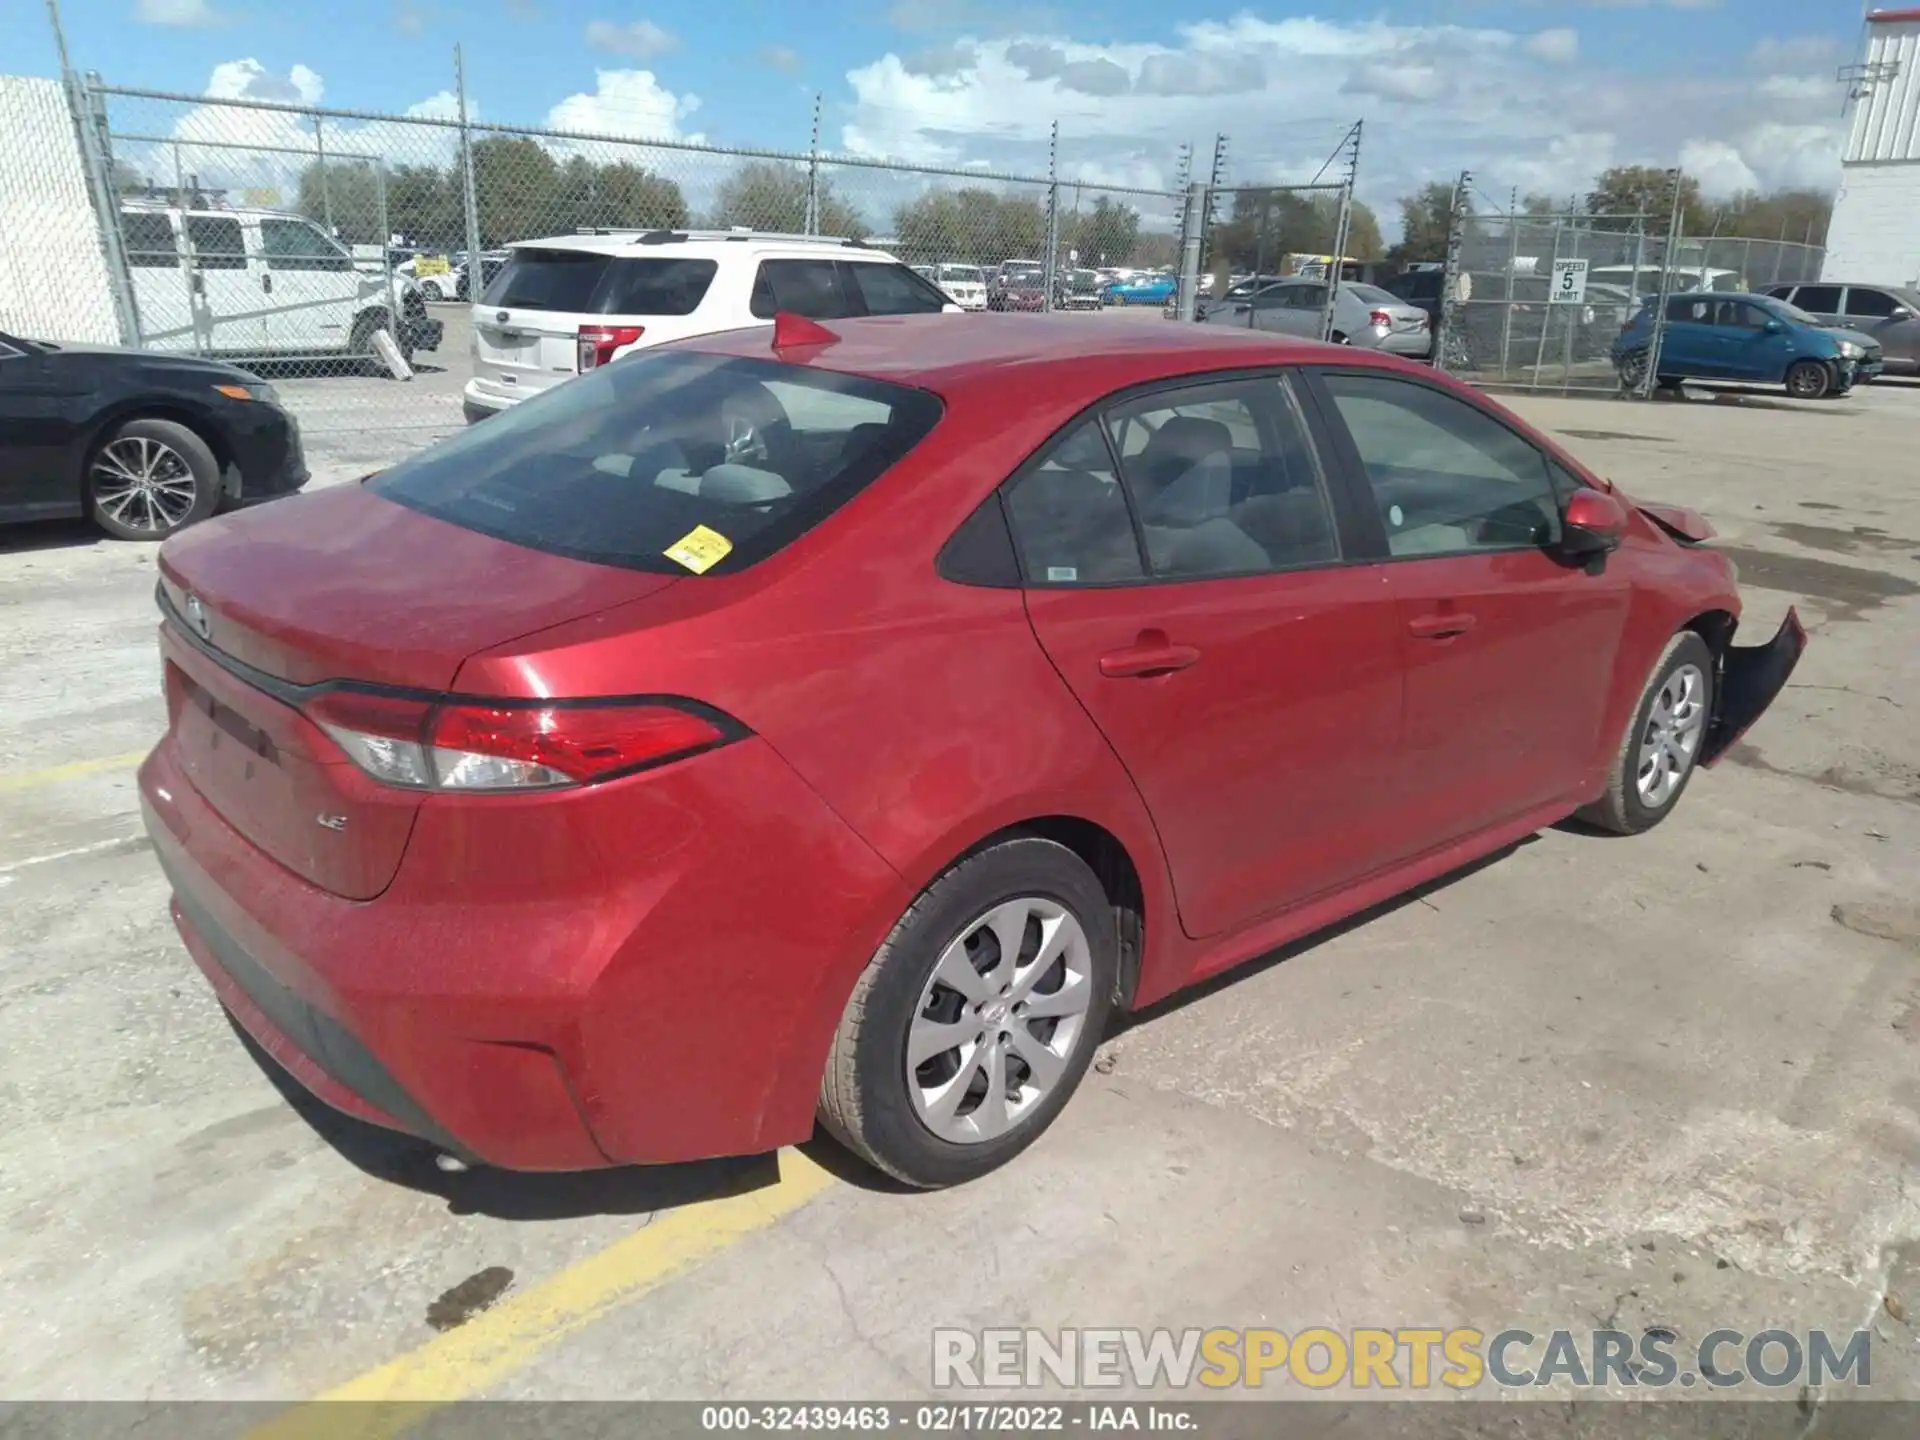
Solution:
<path fill-rule="evenodd" d="M 1609 165 L 1672 165 L 1686 152 L 1709 194 L 1724 194 L 1832 182 L 1841 123 L 1828 58 L 1811 42 L 1763 42 L 1753 65 L 1776 73 L 1761 83 L 1743 63 L 1676 83 L 1647 73 L 1661 61 L 1645 54 L 1634 69 L 1584 58 L 1565 25 L 1269 21 L 1242 12 L 1177 27 L 1171 42 L 1110 44 L 1044 23 L 998 36 L 981 27 L 849 71 L 839 146 L 1037 175 L 1058 119 L 1062 175 L 1108 184 L 1125 175 L 1162 188 L 1181 144 L 1204 159 L 1227 131 L 1233 182 L 1298 182 L 1319 171 L 1348 123 L 1365 119 L 1359 194 L 1386 221 L 1398 196 L 1461 169 L 1492 194 L 1567 196 L 1584 194 Z M 1569 84 L 1574 61 L 1584 69 Z"/>

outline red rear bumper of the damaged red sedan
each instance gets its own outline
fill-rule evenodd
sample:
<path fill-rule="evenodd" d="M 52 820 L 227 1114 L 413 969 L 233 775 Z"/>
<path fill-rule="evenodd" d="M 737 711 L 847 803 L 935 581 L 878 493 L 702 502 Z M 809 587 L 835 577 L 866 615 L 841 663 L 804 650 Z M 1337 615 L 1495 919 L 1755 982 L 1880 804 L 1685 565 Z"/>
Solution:
<path fill-rule="evenodd" d="M 246 841 L 173 747 L 140 768 L 142 812 L 221 1002 L 332 1108 L 505 1169 L 804 1139 L 839 1010 L 906 904 L 751 737 L 564 799 L 434 797 L 374 900 Z"/>

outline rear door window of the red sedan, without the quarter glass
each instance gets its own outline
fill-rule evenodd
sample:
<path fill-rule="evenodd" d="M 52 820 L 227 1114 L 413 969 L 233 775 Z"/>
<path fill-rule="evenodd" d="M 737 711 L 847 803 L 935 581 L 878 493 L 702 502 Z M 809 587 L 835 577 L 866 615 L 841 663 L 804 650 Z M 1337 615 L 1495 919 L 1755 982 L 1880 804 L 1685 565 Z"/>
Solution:
<path fill-rule="evenodd" d="M 1108 415 L 1156 576 L 1260 574 L 1338 559 L 1306 420 L 1279 378 L 1188 386 Z"/>

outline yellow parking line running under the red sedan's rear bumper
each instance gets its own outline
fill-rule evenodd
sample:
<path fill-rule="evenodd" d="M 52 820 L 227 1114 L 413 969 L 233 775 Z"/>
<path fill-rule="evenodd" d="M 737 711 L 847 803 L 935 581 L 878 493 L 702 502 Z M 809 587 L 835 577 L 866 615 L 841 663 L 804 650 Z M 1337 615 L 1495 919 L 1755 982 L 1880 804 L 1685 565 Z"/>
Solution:
<path fill-rule="evenodd" d="M 286 1409 L 248 1440 L 390 1440 L 440 1405 L 490 1390 L 620 1306 L 762 1231 L 833 1183 L 797 1150 L 780 1152 L 780 1181 L 747 1194 L 684 1206 L 582 1260 L 551 1281 L 484 1309 L 457 1331 Z M 357 1402 L 342 1409 L 338 1402 Z"/>

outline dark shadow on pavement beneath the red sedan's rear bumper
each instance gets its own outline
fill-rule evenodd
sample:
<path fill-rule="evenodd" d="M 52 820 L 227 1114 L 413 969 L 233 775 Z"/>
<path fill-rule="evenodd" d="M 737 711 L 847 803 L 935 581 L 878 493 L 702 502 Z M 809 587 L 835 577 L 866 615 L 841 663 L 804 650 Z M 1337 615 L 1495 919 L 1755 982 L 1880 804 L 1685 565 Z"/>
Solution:
<path fill-rule="evenodd" d="M 453 1215 L 492 1219 L 582 1219 L 588 1215 L 659 1215 L 703 1200 L 762 1190 L 780 1183 L 780 1156 L 699 1160 L 684 1165 L 620 1165 L 559 1173 L 522 1173 L 474 1165 L 445 1171 L 436 1150 L 399 1131 L 355 1119 L 307 1091 L 246 1029 L 234 1035 L 294 1112 L 348 1164 L 390 1185 L 434 1194 Z M 851 1160 L 847 1164 L 852 1164 Z M 833 1169 L 822 1160 L 824 1169 Z"/>

